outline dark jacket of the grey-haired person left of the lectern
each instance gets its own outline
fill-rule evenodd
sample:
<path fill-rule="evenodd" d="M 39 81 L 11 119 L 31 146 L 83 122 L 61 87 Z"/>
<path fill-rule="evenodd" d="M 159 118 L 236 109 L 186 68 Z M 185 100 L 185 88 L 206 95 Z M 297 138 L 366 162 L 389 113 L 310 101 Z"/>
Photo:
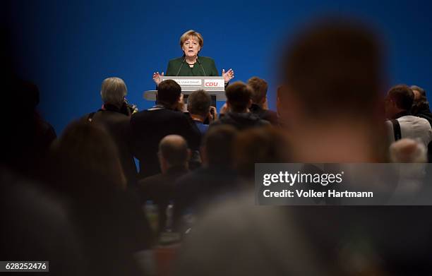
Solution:
<path fill-rule="evenodd" d="M 89 121 L 88 119 L 91 117 L 92 124 L 102 126 L 114 139 L 114 143 L 119 149 L 121 167 L 123 167 L 128 184 L 135 186 L 137 172 L 130 148 L 129 121 L 131 117 L 121 113 L 118 108 L 111 105 L 105 104 L 104 108 L 105 110 L 100 109 L 95 113 L 86 115 L 83 120 Z"/>

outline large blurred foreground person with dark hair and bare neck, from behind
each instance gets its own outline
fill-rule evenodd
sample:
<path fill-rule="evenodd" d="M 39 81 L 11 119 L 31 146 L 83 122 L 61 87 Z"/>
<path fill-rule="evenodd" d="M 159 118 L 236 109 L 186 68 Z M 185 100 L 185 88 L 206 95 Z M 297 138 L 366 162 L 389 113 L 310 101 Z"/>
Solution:
<path fill-rule="evenodd" d="M 277 109 L 294 162 L 385 162 L 383 64 L 374 36 L 320 22 L 282 59 Z M 430 269 L 426 208 L 216 205 L 184 244 L 178 275 L 416 275 Z M 431 271 L 429 271 L 431 272 Z"/>

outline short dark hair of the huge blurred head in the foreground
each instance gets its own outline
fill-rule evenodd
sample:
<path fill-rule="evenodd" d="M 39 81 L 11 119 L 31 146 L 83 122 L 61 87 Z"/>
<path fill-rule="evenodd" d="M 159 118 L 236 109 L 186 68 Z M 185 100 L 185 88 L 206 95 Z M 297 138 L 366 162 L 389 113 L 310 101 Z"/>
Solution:
<path fill-rule="evenodd" d="M 320 21 L 282 59 L 282 80 L 313 118 L 361 116 L 379 102 L 382 59 L 376 36 L 346 20 Z"/>

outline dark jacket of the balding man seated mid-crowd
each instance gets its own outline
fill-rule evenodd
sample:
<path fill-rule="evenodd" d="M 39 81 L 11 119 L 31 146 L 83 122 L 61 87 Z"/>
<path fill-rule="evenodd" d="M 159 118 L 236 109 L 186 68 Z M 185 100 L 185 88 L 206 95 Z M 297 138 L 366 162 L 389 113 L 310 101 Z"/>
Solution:
<path fill-rule="evenodd" d="M 174 183 L 179 177 L 188 172 L 185 167 L 172 167 L 164 174 L 155 174 L 138 181 L 138 194 L 144 204 L 152 200 L 159 212 L 159 231 L 161 232 L 167 221 L 167 206 L 173 200 Z"/>

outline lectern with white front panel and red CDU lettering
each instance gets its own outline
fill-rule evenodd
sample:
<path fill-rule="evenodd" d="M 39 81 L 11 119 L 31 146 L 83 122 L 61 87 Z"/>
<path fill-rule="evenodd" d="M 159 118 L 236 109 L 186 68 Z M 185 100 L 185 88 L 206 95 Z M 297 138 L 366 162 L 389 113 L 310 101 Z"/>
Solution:
<path fill-rule="evenodd" d="M 181 92 L 184 94 L 185 101 L 191 92 L 203 89 L 212 97 L 212 105 L 215 106 L 216 101 L 225 101 L 225 82 L 224 77 L 175 77 L 163 76 L 161 80 L 175 80 L 181 87 Z M 145 100 L 155 101 L 156 90 L 148 90 L 143 95 Z"/>

